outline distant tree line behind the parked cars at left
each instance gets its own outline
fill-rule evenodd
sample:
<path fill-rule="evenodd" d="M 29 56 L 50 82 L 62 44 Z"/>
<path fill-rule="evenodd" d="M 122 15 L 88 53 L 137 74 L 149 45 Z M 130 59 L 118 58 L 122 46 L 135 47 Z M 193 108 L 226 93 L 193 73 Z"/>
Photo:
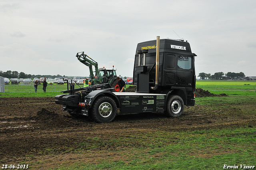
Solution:
<path fill-rule="evenodd" d="M 0 71 L 0 76 L 2 77 L 6 77 L 6 78 L 40 78 L 40 77 L 52 77 L 52 78 L 55 78 L 55 77 L 62 77 L 60 74 L 57 74 L 57 75 L 40 75 L 40 74 L 37 74 L 37 75 L 32 75 L 32 74 L 26 74 L 24 72 L 17 72 L 17 71 L 11 71 L 11 70 L 8 70 L 6 72 L 2 72 Z M 63 77 L 66 77 L 65 75 Z"/>

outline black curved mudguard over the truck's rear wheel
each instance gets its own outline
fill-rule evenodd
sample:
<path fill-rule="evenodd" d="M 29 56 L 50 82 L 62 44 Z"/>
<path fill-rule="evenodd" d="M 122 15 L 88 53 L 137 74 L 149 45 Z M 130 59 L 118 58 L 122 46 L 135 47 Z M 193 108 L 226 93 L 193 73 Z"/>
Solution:
<path fill-rule="evenodd" d="M 114 93 L 112 93 L 110 91 L 106 91 L 106 90 L 94 90 L 94 91 L 90 92 L 88 94 L 88 96 L 86 96 L 86 100 L 88 100 L 88 103 L 90 104 L 89 108 L 92 107 L 94 100 L 100 95 L 105 95 L 105 96 L 109 96 L 109 97 L 113 98 L 114 101 L 116 102 L 116 106 L 117 107 L 121 106 L 121 103 L 120 103 L 118 97 Z"/>

